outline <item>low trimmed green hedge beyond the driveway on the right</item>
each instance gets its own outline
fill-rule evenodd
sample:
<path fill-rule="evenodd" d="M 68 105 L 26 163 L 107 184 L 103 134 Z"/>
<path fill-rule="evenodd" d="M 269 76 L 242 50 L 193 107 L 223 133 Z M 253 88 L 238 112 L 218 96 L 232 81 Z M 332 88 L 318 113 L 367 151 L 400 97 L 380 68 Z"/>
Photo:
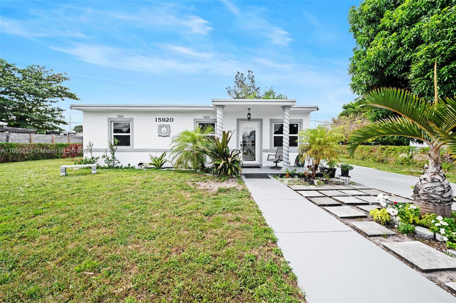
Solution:
<path fill-rule="evenodd" d="M 416 146 L 358 146 L 355 151 L 354 158 L 369 162 L 394 163 L 394 164 L 412 164 L 412 163 L 427 163 L 429 147 Z M 442 162 L 453 162 L 444 150 L 441 152 Z"/>

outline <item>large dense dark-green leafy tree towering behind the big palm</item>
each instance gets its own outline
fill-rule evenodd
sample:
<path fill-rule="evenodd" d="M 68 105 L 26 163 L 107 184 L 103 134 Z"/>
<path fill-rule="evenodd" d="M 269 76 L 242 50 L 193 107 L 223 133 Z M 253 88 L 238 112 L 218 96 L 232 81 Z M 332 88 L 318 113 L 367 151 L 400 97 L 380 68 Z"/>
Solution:
<path fill-rule="evenodd" d="M 456 95 L 456 3 L 454 0 L 364 0 L 348 14 L 356 40 L 348 72 L 359 95 L 380 87 L 434 98 Z"/>

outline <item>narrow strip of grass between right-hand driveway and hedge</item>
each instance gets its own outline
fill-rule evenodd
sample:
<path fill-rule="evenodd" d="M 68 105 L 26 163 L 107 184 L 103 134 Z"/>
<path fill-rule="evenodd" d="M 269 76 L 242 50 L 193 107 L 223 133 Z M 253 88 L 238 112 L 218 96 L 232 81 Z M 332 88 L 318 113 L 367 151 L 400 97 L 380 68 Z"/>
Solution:
<path fill-rule="evenodd" d="M 396 172 L 396 173 L 401 173 L 403 175 L 409 175 L 409 176 L 420 176 L 425 172 L 425 169 L 423 168 L 422 163 L 419 164 L 410 164 L 410 165 L 404 165 L 404 164 L 389 164 L 389 163 L 379 163 L 379 162 L 370 162 L 370 161 L 364 161 L 364 160 L 357 160 L 357 159 L 348 159 L 346 157 L 341 158 L 341 162 L 347 163 L 347 164 L 353 164 L 353 165 L 359 165 L 359 166 L 365 166 L 365 167 L 372 167 L 372 168 L 377 168 L 378 170 L 385 171 L 385 172 Z M 456 170 L 455 167 L 449 165 L 446 163 L 449 169 L 444 169 L 443 171 L 445 172 L 446 178 L 448 178 L 448 181 L 456 183 Z"/>

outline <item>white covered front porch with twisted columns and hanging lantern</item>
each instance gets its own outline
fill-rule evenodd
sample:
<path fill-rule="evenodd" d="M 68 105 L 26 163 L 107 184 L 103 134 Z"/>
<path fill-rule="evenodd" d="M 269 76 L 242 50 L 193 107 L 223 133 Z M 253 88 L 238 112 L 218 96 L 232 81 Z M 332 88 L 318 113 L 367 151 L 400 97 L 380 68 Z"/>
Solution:
<path fill-rule="evenodd" d="M 216 135 L 235 131 L 229 147 L 242 151 L 243 173 L 280 173 L 270 169 L 275 163 L 268 161 L 277 148 L 282 170 L 294 165 L 298 132 L 309 127 L 310 113 L 318 110 L 317 106 L 295 103 L 295 99 L 212 99 L 217 113 Z M 252 166 L 260 168 L 249 168 Z"/>

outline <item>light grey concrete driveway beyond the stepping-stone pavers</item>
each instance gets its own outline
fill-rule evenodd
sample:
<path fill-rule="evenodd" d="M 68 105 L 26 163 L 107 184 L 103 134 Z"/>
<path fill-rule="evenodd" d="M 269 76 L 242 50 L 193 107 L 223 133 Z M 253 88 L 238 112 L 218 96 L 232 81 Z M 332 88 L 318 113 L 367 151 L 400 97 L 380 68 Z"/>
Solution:
<path fill-rule="evenodd" d="M 383 172 L 370 167 L 354 165 L 354 169 L 350 171 L 350 179 L 353 182 L 361 183 L 373 188 L 384 190 L 387 193 L 394 193 L 404 198 L 411 199 L 413 188 L 418 182 L 418 177 L 402 175 L 394 172 Z M 456 193 L 456 184 L 451 183 Z"/>

